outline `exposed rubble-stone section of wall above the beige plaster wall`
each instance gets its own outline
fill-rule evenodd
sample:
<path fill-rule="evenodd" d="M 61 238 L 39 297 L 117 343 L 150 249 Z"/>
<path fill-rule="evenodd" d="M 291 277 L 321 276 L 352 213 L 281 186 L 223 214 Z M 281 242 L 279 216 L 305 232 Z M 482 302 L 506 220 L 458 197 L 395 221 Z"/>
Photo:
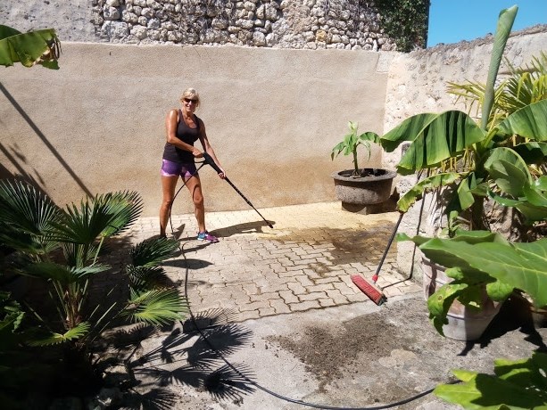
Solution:
<path fill-rule="evenodd" d="M 362 5 L 361 5 L 362 4 Z M 114 43 L 393 50 L 374 3 L 360 0 L 93 0 Z"/>

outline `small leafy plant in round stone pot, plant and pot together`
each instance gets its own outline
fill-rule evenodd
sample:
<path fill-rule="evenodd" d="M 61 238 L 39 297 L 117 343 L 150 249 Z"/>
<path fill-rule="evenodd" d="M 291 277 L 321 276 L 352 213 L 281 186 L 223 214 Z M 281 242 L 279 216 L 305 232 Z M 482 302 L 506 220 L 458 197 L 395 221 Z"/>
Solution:
<path fill-rule="evenodd" d="M 336 198 L 342 201 L 342 207 L 351 211 L 360 211 L 363 207 L 387 201 L 392 193 L 392 182 L 396 173 L 382 168 L 360 168 L 357 160 L 357 148 L 362 145 L 369 154 L 370 143 L 379 143 L 379 136 L 373 132 L 358 135 L 358 124 L 348 122 L 349 134 L 335 145 L 330 154 L 334 160 L 340 153 L 352 155 L 353 169 L 331 174 L 335 181 Z"/>

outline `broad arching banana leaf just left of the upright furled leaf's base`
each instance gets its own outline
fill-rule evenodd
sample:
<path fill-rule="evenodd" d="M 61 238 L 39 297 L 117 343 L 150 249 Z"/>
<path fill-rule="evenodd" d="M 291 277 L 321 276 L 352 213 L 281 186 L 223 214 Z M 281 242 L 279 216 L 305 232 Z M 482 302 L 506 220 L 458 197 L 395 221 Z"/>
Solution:
<path fill-rule="evenodd" d="M 419 169 L 438 167 L 464 152 L 474 143 L 485 139 L 485 133 L 463 111 L 445 111 L 441 114 L 418 114 L 406 119 L 382 137 L 384 146 L 397 138 L 411 141 L 409 148 L 397 165 L 402 175 Z"/>

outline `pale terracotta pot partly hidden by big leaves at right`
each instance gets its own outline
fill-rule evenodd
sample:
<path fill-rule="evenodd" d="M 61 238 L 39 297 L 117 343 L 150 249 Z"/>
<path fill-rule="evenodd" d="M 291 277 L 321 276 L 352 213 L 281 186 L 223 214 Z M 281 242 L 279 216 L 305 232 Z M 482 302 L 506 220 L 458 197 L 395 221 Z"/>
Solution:
<path fill-rule="evenodd" d="M 444 274 L 444 266 L 435 264 L 425 256 L 422 256 L 422 269 L 426 300 L 443 284 L 452 281 L 452 278 Z M 483 309 L 477 311 L 454 300 L 448 310 L 448 324 L 443 325 L 444 336 L 455 340 L 477 340 L 480 338 L 501 308 L 501 303 L 490 299 L 486 290 L 483 292 L 482 305 Z"/>

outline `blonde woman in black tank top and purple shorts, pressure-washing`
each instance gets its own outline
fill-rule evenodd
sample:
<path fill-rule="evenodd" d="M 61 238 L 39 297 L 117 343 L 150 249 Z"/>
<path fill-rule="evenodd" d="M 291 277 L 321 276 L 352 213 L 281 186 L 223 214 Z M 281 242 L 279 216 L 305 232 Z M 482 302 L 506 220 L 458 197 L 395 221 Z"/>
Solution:
<path fill-rule="evenodd" d="M 165 229 L 170 216 L 170 209 L 175 196 L 178 176 L 186 183 L 186 188 L 192 195 L 195 207 L 195 218 L 197 219 L 199 241 L 219 242 L 205 229 L 205 207 L 203 205 L 202 184 L 195 168 L 195 158 L 202 158 L 203 153 L 198 150 L 194 143 L 198 139 L 202 143 L 203 151 L 211 155 L 212 159 L 219 166 L 220 178 L 224 179 L 226 173 L 220 166 L 219 160 L 212 150 L 205 125 L 201 119 L 195 116 L 195 109 L 199 107 L 199 94 L 194 88 L 186 88 L 180 97 L 181 109 L 172 109 L 165 118 L 167 130 L 167 143 L 163 150 L 162 161 L 162 190 L 163 201 L 160 208 L 160 236 L 165 237 Z"/>

